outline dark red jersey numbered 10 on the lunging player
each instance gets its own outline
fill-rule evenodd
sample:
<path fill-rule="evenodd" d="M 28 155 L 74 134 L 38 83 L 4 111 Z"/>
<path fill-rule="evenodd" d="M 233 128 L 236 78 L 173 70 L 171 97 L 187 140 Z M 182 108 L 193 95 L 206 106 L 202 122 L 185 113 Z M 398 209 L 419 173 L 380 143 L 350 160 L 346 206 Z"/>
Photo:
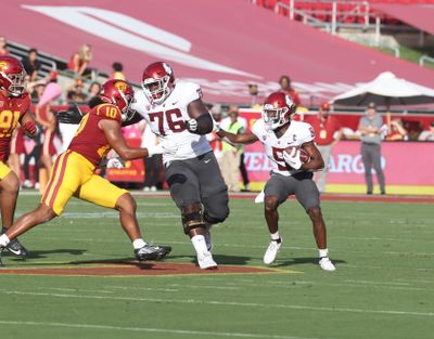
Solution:
<path fill-rule="evenodd" d="M 84 116 L 68 147 L 68 149 L 82 155 L 95 167 L 100 165 L 111 148 L 104 131 L 98 126 L 98 122 L 103 119 L 116 120 L 120 126 L 122 114 L 119 108 L 112 104 L 101 104 L 93 107 Z"/>

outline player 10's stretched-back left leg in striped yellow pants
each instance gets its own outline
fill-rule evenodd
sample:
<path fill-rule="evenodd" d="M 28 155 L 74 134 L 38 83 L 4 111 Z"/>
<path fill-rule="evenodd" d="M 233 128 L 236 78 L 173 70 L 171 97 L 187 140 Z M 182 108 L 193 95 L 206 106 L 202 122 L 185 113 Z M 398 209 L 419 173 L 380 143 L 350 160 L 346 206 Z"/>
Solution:
<path fill-rule="evenodd" d="M 5 247 L 18 235 L 31 227 L 60 216 L 64 206 L 82 181 L 79 162 L 69 152 L 61 154 L 55 160 L 53 171 L 41 198 L 34 211 L 18 218 L 5 234 L 0 237 L 0 247 Z"/>

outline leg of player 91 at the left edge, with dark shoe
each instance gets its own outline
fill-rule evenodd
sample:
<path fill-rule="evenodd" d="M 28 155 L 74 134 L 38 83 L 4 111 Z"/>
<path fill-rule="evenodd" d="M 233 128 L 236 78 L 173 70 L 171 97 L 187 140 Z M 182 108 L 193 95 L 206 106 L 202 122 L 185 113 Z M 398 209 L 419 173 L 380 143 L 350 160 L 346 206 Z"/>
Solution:
<path fill-rule="evenodd" d="M 5 233 L 13 224 L 18 191 L 18 178 L 7 165 L 0 162 L 1 234 Z M 18 242 L 18 239 L 10 242 L 7 249 L 18 258 L 26 258 L 28 256 L 28 250 Z"/>

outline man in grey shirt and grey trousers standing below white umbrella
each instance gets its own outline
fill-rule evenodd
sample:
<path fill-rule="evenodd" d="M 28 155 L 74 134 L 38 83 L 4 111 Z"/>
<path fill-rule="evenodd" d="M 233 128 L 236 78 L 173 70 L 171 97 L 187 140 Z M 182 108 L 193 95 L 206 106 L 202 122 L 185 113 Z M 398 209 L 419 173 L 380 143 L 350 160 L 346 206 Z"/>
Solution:
<path fill-rule="evenodd" d="M 358 126 L 361 140 L 361 158 L 365 167 L 367 194 L 372 194 L 372 167 L 380 184 L 380 193 L 386 194 L 383 169 L 381 168 L 381 132 L 383 119 L 376 115 L 375 104 L 368 105 L 366 116 L 361 117 Z"/>

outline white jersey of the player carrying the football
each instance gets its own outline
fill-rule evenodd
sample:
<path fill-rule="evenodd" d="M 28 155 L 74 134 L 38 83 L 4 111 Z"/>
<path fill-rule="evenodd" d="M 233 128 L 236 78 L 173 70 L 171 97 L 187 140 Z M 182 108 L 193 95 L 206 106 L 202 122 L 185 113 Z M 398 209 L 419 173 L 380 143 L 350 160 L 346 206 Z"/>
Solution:
<path fill-rule="evenodd" d="M 278 138 L 273 131 L 266 128 L 263 119 L 258 119 L 252 127 L 252 133 L 264 144 L 267 157 L 270 159 L 271 172 L 285 177 L 293 175 L 302 170 L 286 167 L 286 162 L 283 159 L 283 151 L 289 146 L 301 146 L 315 139 L 314 128 L 309 123 L 302 121 L 291 121 L 286 132 Z"/>

